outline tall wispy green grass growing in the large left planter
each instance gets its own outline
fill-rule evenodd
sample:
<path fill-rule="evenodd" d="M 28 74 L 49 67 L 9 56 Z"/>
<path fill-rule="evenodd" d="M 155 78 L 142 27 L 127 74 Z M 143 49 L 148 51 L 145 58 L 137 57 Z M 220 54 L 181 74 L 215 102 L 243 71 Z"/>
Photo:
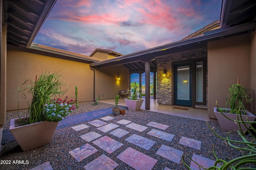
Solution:
<path fill-rule="evenodd" d="M 27 82 L 28 86 L 22 87 Z M 54 73 L 50 71 L 42 72 L 36 80 L 26 80 L 18 86 L 18 92 L 22 92 L 22 98 L 26 99 L 24 91 L 28 91 L 33 96 L 32 102 L 28 107 L 29 123 L 44 121 L 44 105 L 53 98 L 62 97 L 67 91 L 68 86 L 65 84 L 60 70 Z M 63 89 L 63 87 L 66 87 Z"/>

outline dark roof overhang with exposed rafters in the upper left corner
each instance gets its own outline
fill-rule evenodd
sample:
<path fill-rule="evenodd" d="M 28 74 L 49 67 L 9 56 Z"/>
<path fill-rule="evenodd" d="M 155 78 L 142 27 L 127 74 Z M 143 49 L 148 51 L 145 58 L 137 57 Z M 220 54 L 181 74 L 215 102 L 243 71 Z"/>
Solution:
<path fill-rule="evenodd" d="M 7 44 L 29 48 L 56 0 L 3 0 Z"/>

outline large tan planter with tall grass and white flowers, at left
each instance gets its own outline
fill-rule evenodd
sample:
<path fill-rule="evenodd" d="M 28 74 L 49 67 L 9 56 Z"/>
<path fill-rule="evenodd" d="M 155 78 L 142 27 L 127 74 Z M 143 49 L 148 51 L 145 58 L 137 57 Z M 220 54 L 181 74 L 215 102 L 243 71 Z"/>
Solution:
<path fill-rule="evenodd" d="M 25 85 L 26 82 L 29 85 Z M 23 88 L 23 86 L 25 87 Z M 66 88 L 63 88 L 66 86 Z M 38 80 L 26 80 L 18 86 L 19 92 L 28 91 L 33 96 L 32 102 L 28 107 L 28 115 L 11 119 L 10 131 L 23 151 L 38 148 L 50 143 L 58 121 L 64 119 L 73 109 L 73 101 L 62 101 L 56 97 L 63 96 L 68 86 L 64 83 L 62 74 L 59 72 L 42 73 Z M 17 123 L 20 125 L 17 125 Z"/>

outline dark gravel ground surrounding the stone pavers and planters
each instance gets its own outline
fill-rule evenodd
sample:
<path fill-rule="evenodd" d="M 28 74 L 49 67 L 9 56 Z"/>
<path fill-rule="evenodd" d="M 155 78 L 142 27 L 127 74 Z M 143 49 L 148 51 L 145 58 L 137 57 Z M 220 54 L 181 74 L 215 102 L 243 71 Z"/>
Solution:
<path fill-rule="evenodd" d="M 79 113 L 84 113 L 92 110 L 97 110 L 97 109 L 113 107 L 113 106 L 114 105 L 104 104 L 100 102 L 98 106 L 92 106 L 92 102 L 86 102 L 86 103 L 80 104 L 79 109 L 75 109 L 72 112 L 72 115 L 76 115 Z M 102 131 L 99 131 L 98 129 L 96 129 L 97 127 L 90 125 L 88 122 L 84 122 L 84 124 L 90 127 L 80 131 L 74 131 L 74 129 L 72 129 L 71 127 L 66 127 L 63 129 L 56 130 L 52 138 L 52 142 L 38 149 L 23 152 L 16 141 L 3 145 L 2 151 L 0 154 L 1 156 L 0 160 L 11 160 L 11 161 L 28 160 L 29 163 L 28 164 L 11 164 L 11 165 L 0 164 L 0 169 L 1 170 L 2 169 L 29 170 L 31 168 L 34 168 L 40 164 L 43 164 L 49 161 L 54 170 L 60 170 L 60 169 L 61 170 L 76 170 L 76 169 L 82 170 L 84 169 L 83 166 L 85 166 L 86 164 L 88 164 L 98 156 L 105 154 L 106 156 L 108 156 L 109 158 L 111 158 L 112 160 L 114 160 L 119 164 L 119 166 L 117 166 L 116 169 L 130 170 L 133 168 L 128 166 L 118 158 L 116 158 L 116 156 L 118 156 L 128 147 L 132 147 L 133 149 L 136 149 L 156 159 L 157 162 L 153 168 L 154 170 L 164 169 L 165 167 L 168 167 L 173 170 L 186 169 L 182 162 L 180 162 L 180 164 L 176 164 L 170 160 L 167 160 L 166 158 L 163 158 L 162 156 L 157 155 L 156 152 L 162 145 L 167 145 L 169 147 L 173 147 L 175 149 L 183 151 L 185 156 L 185 162 L 188 165 L 190 165 L 190 160 L 188 157 L 192 158 L 192 154 L 198 154 L 200 156 L 215 160 L 214 154 L 212 152 L 213 147 L 216 152 L 216 155 L 218 156 L 218 158 L 221 158 L 221 159 L 226 158 L 230 160 L 237 156 L 242 155 L 242 153 L 240 153 L 238 150 L 233 149 L 232 147 L 226 145 L 226 143 L 223 140 L 216 137 L 210 131 L 209 127 L 206 124 L 206 121 L 178 117 L 174 115 L 166 115 L 166 114 L 157 113 L 153 111 L 146 111 L 146 110 L 140 110 L 140 111 L 127 110 L 125 115 L 120 115 L 115 117 L 112 114 L 110 114 L 109 116 L 114 117 L 114 119 L 110 121 L 106 121 L 107 123 L 115 123 L 116 121 L 126 119 L 126 120 L 132 121 L 133 123 L 137 123 L 144 126 L 146 126 L 146 124 L 148 124 L 151 121 L 169 125 L 169 127 L 166 130 L 161 130 L 161 129 L 158 129 L 158 130 L 171 133 L 175 136 L 171 142 L 168 142 L 168 141 L 159 139 L 157 137 L 148 135 L 147 133 L 151 129 L 153 129 L 153 127 L 147 126 L 148 129 L 146 129 L 145 131 L 138 132 L 133 129 L 125 127 L 125 125 L 120 125 L 116 123 L 120 125 L 120 128 L 130 132 L 124 137 L 118 138 L 118 137 L 115 137 L 114 135 L 109 134 L 108 132 L 104 133 Z M 9 120 L 14 117 L 16 117 L 14 113 L 7 113 L 6 125 L 4 125 L 4 129 L 9 128 L 8 127 L 10 124 Z M 98 118 L 98 120 L 102 120 L 102 119 Z M 214 128 L 214 131 L 216 131 L 216 133 L 218 133 L 222 137 L 226 137 L 226 132 L 220 129 L 218 122 L 209 122 L 209 124 L 211 127 Z M 95 147 L 96 149 L 98 149 L 98 151 L 92 154 L 91 156 L 85 158 L 84 160 L 77 162 L 68 152 L 75 148 L 81 147 L 82 145 L 85 145 L 87 142 L 81 139 L 79 136 L 89 133 L 91 131 L 101 134 L 102 137 L 107 135 L 108 137 L 111 137 L 112 139 L 119 141 L 124 145 L 119 149 L 117 149 L 116 151 L 109 154 L 108 152 L 94 145 L 92 143 L 94 141 L 93 140 L 88 143 L 93 147 Z M 133 145 L 125 141 L 125 139 L 130 137 L 132 134 L 137 134 L 137 135 L 146 137 L 148 139 L 156 141 L 156 143 L 149 150 L 142 149 L 136 145 Z M 201 141 L 202 142 L 201 150 L 193 149 L 193 148 L 178 144 L 181 137 L 188 137 L 191 139 Z M 250 137 L 248 138 L 250 139 Z M 241 141 L 240 137 L 236 133 L 230 133 L 230 139 Z M 240 146 L 240 145 L 236 144 L 236 146 Z"/>

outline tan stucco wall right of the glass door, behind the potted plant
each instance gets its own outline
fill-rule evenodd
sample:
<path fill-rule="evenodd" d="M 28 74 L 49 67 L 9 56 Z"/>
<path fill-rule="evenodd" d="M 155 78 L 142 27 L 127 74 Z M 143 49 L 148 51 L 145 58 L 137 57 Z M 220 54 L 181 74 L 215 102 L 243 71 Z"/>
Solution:
<path fill-rule="evenodd" d="M 208 42 L 208 116 L 213 107 L 225 107 L 230 84 L 251 86 L 250 33 Z M 250 106 L 246 105 L 250 110 Z"/>

